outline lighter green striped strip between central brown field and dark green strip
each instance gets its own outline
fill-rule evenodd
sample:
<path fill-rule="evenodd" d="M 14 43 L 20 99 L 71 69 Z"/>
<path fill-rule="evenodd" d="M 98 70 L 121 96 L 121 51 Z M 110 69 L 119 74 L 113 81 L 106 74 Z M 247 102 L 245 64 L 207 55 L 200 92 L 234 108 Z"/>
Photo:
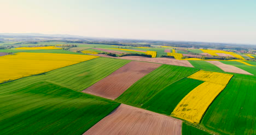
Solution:
<path fill-rule="evenodd" d="M 118 97 L 117 100 L 123 103 L 141 107 L 166 86 L 174 83 L 175 81 L 188 77 L 190 74 L 193 74 L 196 71 L 198 71 L 198 69 L 162 65 L 138 80 L 120 97 Z"/>

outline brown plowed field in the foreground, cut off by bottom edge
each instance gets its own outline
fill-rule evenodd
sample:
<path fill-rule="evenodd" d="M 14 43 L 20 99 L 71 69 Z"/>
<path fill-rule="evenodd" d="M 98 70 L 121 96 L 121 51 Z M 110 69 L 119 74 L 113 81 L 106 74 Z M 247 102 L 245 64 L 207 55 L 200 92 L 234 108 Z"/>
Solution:
<path fill-rule="evenodd" d="M 121 104 L 84 135 L 181 134 L 182 120 Z"/>

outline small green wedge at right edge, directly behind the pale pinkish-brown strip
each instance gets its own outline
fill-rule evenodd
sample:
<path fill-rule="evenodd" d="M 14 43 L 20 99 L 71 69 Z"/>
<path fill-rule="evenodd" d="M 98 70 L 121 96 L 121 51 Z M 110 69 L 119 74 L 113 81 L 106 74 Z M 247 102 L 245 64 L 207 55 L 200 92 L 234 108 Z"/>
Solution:
<path fill-rule="evenodd" d="M 238 67 L 238 68 L 241 68 L 253 75 L 256 75 L 256 66 L 248 66 L 246 64 L 243 64 L 241 62 L 237 62 L 237 61 L 220 61 L 224 64 L 230 64 L 232 66 L 235 66 L 235 67 Z"/>

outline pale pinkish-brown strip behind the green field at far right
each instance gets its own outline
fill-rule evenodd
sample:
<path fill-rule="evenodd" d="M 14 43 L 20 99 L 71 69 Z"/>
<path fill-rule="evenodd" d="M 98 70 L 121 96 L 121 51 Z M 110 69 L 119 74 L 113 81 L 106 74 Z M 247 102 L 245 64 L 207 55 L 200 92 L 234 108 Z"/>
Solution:
<path fill-rule="evenodd" d="M 231 73 L 238 73 L 238 74 L 249 74 L 249 75 L 253 75 L 247 71 L 244 71 L 241 68 L 235 67 L 235 66 L 231 66 L 229 64 L 224 64 L 220 61 L 207 61 L 209 63 L 214 64 L 215 66 L 219 67 L 220 69 L 222 69 L 225 72 L 231 72 Z"/>

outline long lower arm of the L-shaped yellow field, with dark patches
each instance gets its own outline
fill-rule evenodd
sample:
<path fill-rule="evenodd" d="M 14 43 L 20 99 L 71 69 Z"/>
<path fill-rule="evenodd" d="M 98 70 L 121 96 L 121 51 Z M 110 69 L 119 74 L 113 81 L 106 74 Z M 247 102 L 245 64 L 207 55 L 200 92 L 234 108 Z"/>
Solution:
<path fill-rule="evenodd" d="M 225 85 L 210 82 L 195 87 L 178 103 L 172 116 L 199 124 L 203 114 Z"/>

